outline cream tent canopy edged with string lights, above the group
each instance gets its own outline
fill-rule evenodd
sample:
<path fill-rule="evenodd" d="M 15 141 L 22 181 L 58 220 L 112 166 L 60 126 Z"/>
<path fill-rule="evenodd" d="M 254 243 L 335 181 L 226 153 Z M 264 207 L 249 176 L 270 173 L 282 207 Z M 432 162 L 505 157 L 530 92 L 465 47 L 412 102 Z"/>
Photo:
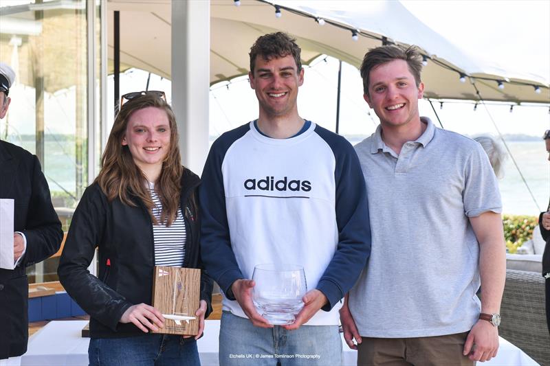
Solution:
<path fill-rule="evenodd" d="M 276 18 L 274 5 L 281 6 Z M 109 58 L 112 10 L 120 10 L 123 67 L 170 78 L 170 1 L 109 0 Z M 315 19 L 325 19 L 319 25 Z M 146 26 L 136 26 L 136 24 Z M 359 30 L 358 41 L 351 30 Z M 212 0 L 210 5 L 210 84 L 248 73 L 248 52 L 262 34 L 283 30 L 296 36 L 305 63 L 327 54 L 359 67 L 367 49 L 388 41 L 420 47 L 429 56 L 423 71 L 426 98 L 550 103 L 547 80 L 476 60 L 424 25 L 398 1 Z M 196 55 L 196 57 L 201 57 Z M 470 78 L 460 82 L 460 74 Z M 498 88 L 504 82 L 504 89 Z M 541 93 L 534 88 L 540 87 Z"/>

